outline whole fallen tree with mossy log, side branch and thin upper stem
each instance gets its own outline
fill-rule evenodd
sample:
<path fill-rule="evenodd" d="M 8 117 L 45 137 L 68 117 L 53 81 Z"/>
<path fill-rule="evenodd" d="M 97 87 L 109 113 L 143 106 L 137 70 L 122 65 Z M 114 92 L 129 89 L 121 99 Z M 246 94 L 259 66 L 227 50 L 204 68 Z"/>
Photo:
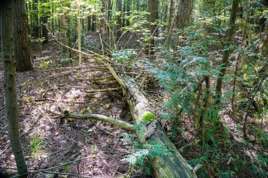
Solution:
<path fill-rule="evenodd" d="M 168 154 L 163 156 L 155 156 L 150 160 L 153 167 L 153 175 L 155 178 L 197 177 L 192 167 L 184 160 L 184 158 L 177 150 L 176 146 L 169 140 L 165 132 L 162 130 L 159 122 L 155 117 L 155 114 L 153 114 L 154 113 L 153 109 L 150 107 L 147 98 L 145 98 L 144 95 L 139 91 L 138 86 L 135 84 L 135 81 L 131 77 L 125 76 L 126 77 L 125 80 L 122 81 L 109 64 L 110 61 L 108 60 L 108 58 L 90 51 L 94 55 L 100 57 L 101 58 L 100 60 L 99 58 L 94 57 L 88 53 L 70 48 L 59 42 L 56 38 L 55 40 L 60 45 L 64 46 L 67 49 L 88 56 L 100 64 L 104 64 L 109 69 L 109 71 L 116 79 L 116 81 L 121 85 L 121 87 L 123 87 L 124 90 L 127 90 L 127 101 L 130 107 L 133 120 L 138 125 L 138 127 L 136 127 L 136 135 L 140 143 L 142 144 L 157 143 L 157 144 L 168 145 L 169 147 L 168 149 L 170 150 Z M 141 52 L 142 51 L 140 51 L 140 53 Z M 118 122 L 117 120 L 113 120 L 113 118 L 102 115 L 88 114 L 86 116 L 81 116 L 76 114 L 65 113 L 64 116 L 73 118 L 100 120 L 110 122 L 115 125 L 117 124 L 117 126 L 120 127 L 124 126 L 125 129 L 128 130 L 134 129 L 132 125 L 126 125 L 125 123 L 123 123 L 122 125 L 121 122 Z"/>

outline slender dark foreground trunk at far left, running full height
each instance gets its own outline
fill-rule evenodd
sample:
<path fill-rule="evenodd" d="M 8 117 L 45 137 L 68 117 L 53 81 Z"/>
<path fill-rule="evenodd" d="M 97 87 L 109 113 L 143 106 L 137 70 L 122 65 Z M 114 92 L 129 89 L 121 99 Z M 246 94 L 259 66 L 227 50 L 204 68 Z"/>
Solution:
<path fill-rule="evenodd" d="M 2 0 L 0 11 L 0 29 L 2 43 L 2 58 L 4 66 L 4 87 L 6 113 L 8 119 L 8 134 L 11 148 L 15 156 L 18 174 L 27 173 L 27 165 L 19 138 L 18 104 L 15 85 L 15 59 L 13 37 L 13 1 Z M 27 174 L 19 177 L 27 177 Z"/>

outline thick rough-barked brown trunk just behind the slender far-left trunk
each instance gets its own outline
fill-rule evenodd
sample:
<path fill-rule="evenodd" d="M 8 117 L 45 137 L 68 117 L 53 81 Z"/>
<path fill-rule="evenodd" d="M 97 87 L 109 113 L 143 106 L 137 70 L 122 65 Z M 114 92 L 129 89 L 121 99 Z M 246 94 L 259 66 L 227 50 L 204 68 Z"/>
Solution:
<path fill-rule="evenodd" d="M 26 3 L 25 0 L 14 0 L 14 38 L 15 40 L 15 61 L 16 71 L 33 70 L 32 50 L 28 38 L 28 28 L 26 25 Z"/>

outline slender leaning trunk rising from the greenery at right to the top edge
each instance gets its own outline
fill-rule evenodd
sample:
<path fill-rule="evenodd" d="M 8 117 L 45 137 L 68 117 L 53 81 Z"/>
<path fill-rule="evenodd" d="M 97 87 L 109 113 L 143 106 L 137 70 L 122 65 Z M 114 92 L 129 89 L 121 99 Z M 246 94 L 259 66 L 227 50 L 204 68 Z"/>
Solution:
<path fill-rule="evenodd" d="M 223 77 L 225 76 L 226 68 L 228 64 L 228 58 L 230 54 L 230 50 L 228 48 L 231 45 L 231 41 L 233 39 L 235 19 L 236 19 L 238 6 L 239 6 L 239 0 L 233 0 L 232 10 L 231 10 L 229 24 L 228 24 L 229 28 L 227 30 L 227 36 L 226 36 L 226 41 L 225 41 L 225 46 L 224 46 L 225 50 L 223 52 L 222 65 L 221 65 L 220 73 L 218 74 L 217 82 L 216 82 L 216 90 L 215 90 L 215 104 L 216 105 L 219 104 L 220 101 L 222 100 Z"/>

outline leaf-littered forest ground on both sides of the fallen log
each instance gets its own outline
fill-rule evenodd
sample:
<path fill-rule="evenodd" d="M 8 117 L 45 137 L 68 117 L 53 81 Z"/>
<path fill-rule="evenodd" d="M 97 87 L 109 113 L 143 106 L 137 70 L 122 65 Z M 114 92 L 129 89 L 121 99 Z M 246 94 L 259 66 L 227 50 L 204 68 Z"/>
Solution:
<path fill-rule="evenodd" d="M 98 38 L 95 39 L 98 40 Z M 85 67 L 82 68 L 76 67 L 78 66 L 77 56 L 74 57 L 75 62 L 65 60 L 66 51 L 61 52 L 53 40 L 43 46 L 42 56 L 40 56 L 39 48 L 36 46 L 34 45 L 36 57 L 34 70 L 16 74 L 21 142 L 28 167 L 34 171 L 68 163 L 79 158 L 89 158 L 52 170 L 32 173 L 30 177 L 53 177 L 49 171 L 69 173 L 68 177 L 77 177 L 75 175 L 81 177 L 126 176 L 129 172 L 128 163 L 121 161 L 121 159 L 133 151 L 133 145 L 129 145 L 128 140 L 121 135 L 127 131 L 99 121 L 71 121 L 59 118 L 50 112 L 60 112 L 67 109 L 69 112 L 81 114 L 98 113 L 132 123 L 131 115 L 124 107 L 124 97 L 120 89 L 112 92 L 88 92 L 115 88 L 119 85 L 116 82 L 110 82 L 113 80 L 112 78 L 101 79 L 109 76 L 110 73 L 103 69 L 103 66 L 90 61 L 89 58 L 83 57 L 82 65 Z M 2 64 L 0 66 L 0 82 L 3 83 Z M 79 78 L 77 78 L 78 70 L 81 70 Z M 98 80 L 110 83 L 100 84 Z M 148 96 L 159 116 L 161 106 L 166 100 L 165 95 L 160 93 L 156 81 L 149 81 L 145 86 L 144 93 Z M 214 164 L 220 165 L 222 172 L 239 170 L 234 174 L 234 177 L 255 177 L 251 163 L 258 160 L 256 158 L 259 153 L 267 152 L 265 147 L 260 147 L 254 142 L 248 143 L 248 145 L 243 143 L 242 133 L 237 129 L 238 127 L 234 124 L 229 113 L 223 111 L 221 116 L 224 125 L 230 129 L 232 146 L 225 147 L 229 137 L 225 137 L 225 134 L 218 135 L 218 147 L 216 150 L 212 150 L 209 156 L 215 161 Z M 162 124 L 164 129 L 170 131 L 168 128 L 172 126 L 173 122 L 164 121 Z M 259 123 L 252 120 L 251 125 L 254 128 L 258 127 Z M 3 85 L 0 86 L 0 126 L 0 165 L 12 168 L 15 167 L 15 161 L 8 140 Z M 180 138 L 175 139 L 180 140 L 175 142 L 178 148 L 197 139 L 191 118 L 184 116 L 180 127 L 185 129 L 183 132 L 176 131 L 180 135 Z M 188 161 L 194 160 L 202 152 L 202 149 L 204 148 L 193 145 L 184 150 L 182 155 Z M 260 163 L 256 162 L 255 164 L 258 166 Z M 211 173 L 211 177 L 220 176 L 216 170 L 213 170 L 214 165 L 211 167 L 208 165 L 205 165 L 204 169 Z M 5 170 L 14 172 L 12 169 Z M 138 170 L 138 167 L 135 170 Z M 60 177 L 60 175 L 54 177 Z M 132 173 L 131 177 L 149 176 L 144 172 L 136 171 Z"/>

